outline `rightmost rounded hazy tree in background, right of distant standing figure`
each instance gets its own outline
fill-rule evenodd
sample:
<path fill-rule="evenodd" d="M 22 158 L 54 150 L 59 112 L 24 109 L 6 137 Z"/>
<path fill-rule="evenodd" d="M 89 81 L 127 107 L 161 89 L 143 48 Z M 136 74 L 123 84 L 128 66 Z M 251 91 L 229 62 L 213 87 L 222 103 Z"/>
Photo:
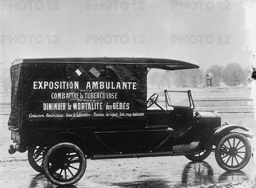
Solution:
<path fill-rule="evenodd" d="M 227 85 L 236 86 L 244 83 L 244 70 L 238 63 L 229 63 L 225 69 L 229 71 L 229 74 L 223 77 Z"/>

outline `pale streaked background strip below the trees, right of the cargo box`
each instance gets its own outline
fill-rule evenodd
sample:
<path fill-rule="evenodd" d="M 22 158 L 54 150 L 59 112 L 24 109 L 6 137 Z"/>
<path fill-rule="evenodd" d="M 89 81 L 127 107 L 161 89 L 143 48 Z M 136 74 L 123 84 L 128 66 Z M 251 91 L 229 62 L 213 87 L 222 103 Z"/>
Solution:
<path fill-rule="evenodd" d="M 248 86 L 166 89 L 169 91 L 187 91 L 190 89 L 196 110 L 199 111 L 213 109 L 221 113 L 254 112 L 251 88 Z M 158 104 L 166 107 L 164 89 L 148 89 L 148 96 L 153 93 L 159 93 Z"/>

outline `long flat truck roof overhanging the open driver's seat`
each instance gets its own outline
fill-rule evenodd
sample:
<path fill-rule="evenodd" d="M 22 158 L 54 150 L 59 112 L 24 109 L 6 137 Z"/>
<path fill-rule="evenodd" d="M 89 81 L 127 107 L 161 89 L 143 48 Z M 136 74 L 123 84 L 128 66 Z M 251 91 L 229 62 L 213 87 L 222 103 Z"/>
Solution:
<path fill-rule="evenodd" d="M 140 64 L 147 68 L 164 70 L 179 70 L 199 68 L 198 65 L 180 60 L 144 58 L 144 57 L 74 57 L 74 58 L 36 58 L 15 60 L 12 65 L 19 63 L 92 63 L 92 64 Z"/>

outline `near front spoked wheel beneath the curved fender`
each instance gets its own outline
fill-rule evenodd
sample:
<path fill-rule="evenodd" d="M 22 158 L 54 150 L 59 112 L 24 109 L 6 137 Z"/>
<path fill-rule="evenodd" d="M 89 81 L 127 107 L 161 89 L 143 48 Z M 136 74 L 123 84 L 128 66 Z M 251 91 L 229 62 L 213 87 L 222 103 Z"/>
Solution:
<path fill-rule="evenodd" d="M 249 162 L 250 156 L 250 142 L 239 133 L 227 134 L 215 149 L 215 159 L 218 165 L 226 171 L 241 170 Z"/>

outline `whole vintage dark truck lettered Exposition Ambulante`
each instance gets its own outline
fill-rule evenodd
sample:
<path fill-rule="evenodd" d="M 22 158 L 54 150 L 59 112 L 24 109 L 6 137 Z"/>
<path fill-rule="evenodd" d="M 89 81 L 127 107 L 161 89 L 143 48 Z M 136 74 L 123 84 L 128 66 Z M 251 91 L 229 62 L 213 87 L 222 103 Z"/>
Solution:
<path fill-rule="evenodd" d="M 240 170 L 251 156 L 250 134 L 221 125 L 214 111 L 194 111 L 191 91 L 164 90 L 147 100 L 151 68 L 199 68 L 156 58 L 42 58 L 12 63 L 9 130 L 17 144 L 9 153 L 28 150 L 32 168 L 55 185 L 79 181 L 86 159 L 184 155 L 192 161 L 214 151 L 221 168 Z M 173 94 L 183 102 L 175 103 Z M 152 105 L 159 109 L 150 108 Z"/>

